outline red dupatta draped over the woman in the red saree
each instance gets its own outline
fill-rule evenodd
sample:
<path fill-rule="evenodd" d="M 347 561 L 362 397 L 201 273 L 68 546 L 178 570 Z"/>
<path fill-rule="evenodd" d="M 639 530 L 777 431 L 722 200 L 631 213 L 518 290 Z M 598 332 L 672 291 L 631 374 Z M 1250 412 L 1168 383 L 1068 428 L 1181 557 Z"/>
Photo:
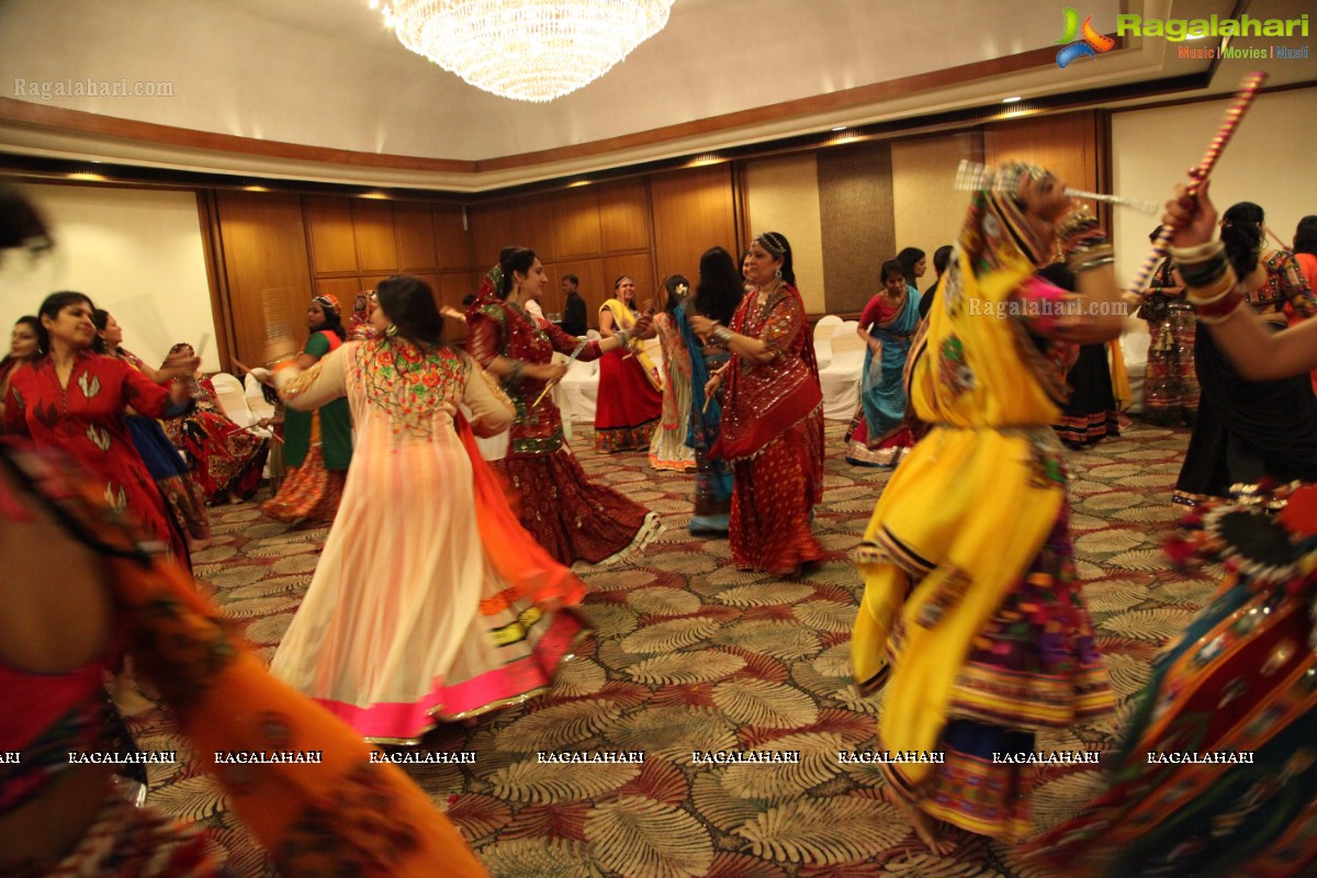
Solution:
<path fill-rule="evenodd" d="M 772 330 L 773 320 L 798 325 L 788 330 L 789 341 L 770 362 L 756 363 L 732 354 L 726 373 L 722 429 L 710 453 L 728 461 L 759 454 L 823 401 L 818 359 L 799 291 L 782 283 L 769 294 L 763 308 L 756 308 L 755 299 L 748 295 L 741 300 L 732 316 L 732 332 L 760 338 L 765 330 Z M 790 313 L 793 303 L 794 313 Z M 777 313 L 782 308 L 788 313 Z"/>

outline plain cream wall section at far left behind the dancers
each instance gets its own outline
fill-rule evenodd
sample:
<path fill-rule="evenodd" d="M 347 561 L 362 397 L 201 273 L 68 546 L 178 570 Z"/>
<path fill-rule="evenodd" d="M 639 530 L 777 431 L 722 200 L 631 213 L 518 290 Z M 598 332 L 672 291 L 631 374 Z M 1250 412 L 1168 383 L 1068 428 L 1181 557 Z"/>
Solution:
<path fill-rule="evenodd" d="M 148 363 L 173 344 L 209 342 L 203 367 L 220 367 L 196 195 L 92 186 L 20 187 L 46 217 L 55 250 L 29 265 L 7 254 L 0 326 L 36 313 L 55 290 L 91 296 L 124 326 L 124 346 Z M 8 346 L 5 346 L 8 351 Z"/>

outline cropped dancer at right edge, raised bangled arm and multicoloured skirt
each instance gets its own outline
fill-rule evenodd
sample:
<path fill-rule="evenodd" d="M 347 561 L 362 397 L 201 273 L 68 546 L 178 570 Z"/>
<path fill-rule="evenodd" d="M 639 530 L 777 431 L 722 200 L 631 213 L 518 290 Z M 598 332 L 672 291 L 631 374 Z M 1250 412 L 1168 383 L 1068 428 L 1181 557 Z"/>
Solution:
<path fill-rule="evenodd" d="M 1198 336 L 1210 334 L 1247 380 L 1306 384 L 1317 323 L 1277 333 L 1247 307 L 1255 286 L 1235 275 L 1229 245 L 1213 241 L 1208 190 L 1191 197 L 1181 187 L 1166 213 Z M 1197 520 L 1197 541 L 1223 557 L 1225 581 L 1158 658 L 1114 765 L 1102 760 L 1109 790 L 1036 852 L 1080 874 L 1313 874 L 1317 486 L 1254 500 Z M 1266 512 L 1270 502 L 1285 503 L 1280 515 Z"/>

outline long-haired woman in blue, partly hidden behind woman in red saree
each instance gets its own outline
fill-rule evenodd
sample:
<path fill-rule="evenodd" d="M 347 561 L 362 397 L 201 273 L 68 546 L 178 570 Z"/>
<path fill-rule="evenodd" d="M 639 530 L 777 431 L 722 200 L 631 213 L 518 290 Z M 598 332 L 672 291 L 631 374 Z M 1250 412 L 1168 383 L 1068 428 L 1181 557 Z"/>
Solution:
<path fill-rule="evenodd" d="M 710 455 L 718 442 L 723 420 L 723 395 L 706 398 L 705 386 L 712 373 L 731 358 L 731 351 L 716 338 L 701 338 L 690 328 L 690 317 L 699 315 L 727 325 L 745 296 L 744 279 L 732 255 L 711 247 L 699 257 L 699 286 L 695 297 L 677 307 L 677 325 L 690 357 L 690 432 L 686 444 L 695 452 L 695 515 L 690 532 L 726 534 L 732 509 L 732 467 L 727 461 Z"/>

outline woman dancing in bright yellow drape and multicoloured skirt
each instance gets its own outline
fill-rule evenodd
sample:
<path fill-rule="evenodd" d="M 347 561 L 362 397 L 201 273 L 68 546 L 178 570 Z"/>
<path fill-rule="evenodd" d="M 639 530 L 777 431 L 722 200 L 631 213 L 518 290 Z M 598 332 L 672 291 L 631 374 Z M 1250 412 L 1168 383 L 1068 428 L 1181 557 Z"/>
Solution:
<path fill-rule="evenodd" d="M 1118 303 L 1112 250 L 1090 216 L 1059 222 L 1063 188 L 1042 168 L 1010 165 L 975 192 L 906 366 L 930 430 L 856 553 L 865 591 L 855 679 L 861 691 L 886 683 L 881 748 L 943 754 L 884 766 L 936 853 L 950 849 L 939 820 L 1008 842 L 1029 835 L 1031 769 L 993 754 L 1030 753 L 1035 732 L 1114 707 L 1075 578 L 1050 424 L 1077 344 L 1114 337 L 1121 319 L 1090 307 Z M 1034 276 L 1058 234 L 1079 295 Z"/>

